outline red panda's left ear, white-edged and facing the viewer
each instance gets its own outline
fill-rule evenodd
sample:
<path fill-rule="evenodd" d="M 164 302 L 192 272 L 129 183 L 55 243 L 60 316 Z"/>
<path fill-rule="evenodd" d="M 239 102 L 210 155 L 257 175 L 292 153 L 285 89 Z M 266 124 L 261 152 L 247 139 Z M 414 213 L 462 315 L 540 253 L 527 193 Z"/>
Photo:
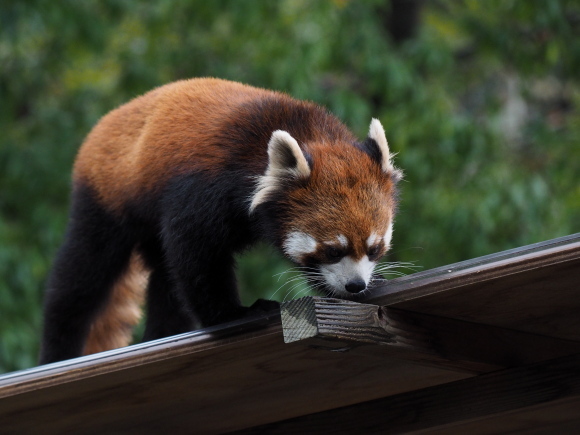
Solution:
<path fill-rule="evenodd" d="M 268 142 L 268 168 L 258 179 L 251 198 L 250 213 L 266 202 L 271 193 L 278 191 L 283 180 L 309 176 L 310 165 L 296 139 L 286 131 L 276 130 Z"/>

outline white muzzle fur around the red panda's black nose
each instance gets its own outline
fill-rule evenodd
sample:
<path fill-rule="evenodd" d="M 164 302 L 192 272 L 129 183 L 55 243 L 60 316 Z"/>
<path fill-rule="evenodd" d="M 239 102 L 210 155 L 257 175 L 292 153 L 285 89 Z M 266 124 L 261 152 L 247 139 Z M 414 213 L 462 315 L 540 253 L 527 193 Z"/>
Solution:
<path fill-rule="evenodd" d="M 346 284 L 351 281 L 362 279 L 368 285 L 374 268 L 375 262 L 370 261 L 369 257 L 365 255 L 359 261 L 355 261 L 351 257 L 344 257 L 338 263 L 322 264 L 320 272 L 328 286 L 340 296 L 341 294 L 351 295 L 345 289 Z"/>

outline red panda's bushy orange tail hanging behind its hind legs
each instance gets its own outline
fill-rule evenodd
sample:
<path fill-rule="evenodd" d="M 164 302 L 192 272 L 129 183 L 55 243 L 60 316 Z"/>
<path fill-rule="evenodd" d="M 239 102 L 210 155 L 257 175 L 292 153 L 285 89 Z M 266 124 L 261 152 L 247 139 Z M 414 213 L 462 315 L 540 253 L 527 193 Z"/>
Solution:
<path fill-rule="evenodd" d="M 149 273 L 133 252 L 127 272 L 115 284 L 105 309 L 91 325 L 84 355 L 127 346 L 141 319 Z"/>

